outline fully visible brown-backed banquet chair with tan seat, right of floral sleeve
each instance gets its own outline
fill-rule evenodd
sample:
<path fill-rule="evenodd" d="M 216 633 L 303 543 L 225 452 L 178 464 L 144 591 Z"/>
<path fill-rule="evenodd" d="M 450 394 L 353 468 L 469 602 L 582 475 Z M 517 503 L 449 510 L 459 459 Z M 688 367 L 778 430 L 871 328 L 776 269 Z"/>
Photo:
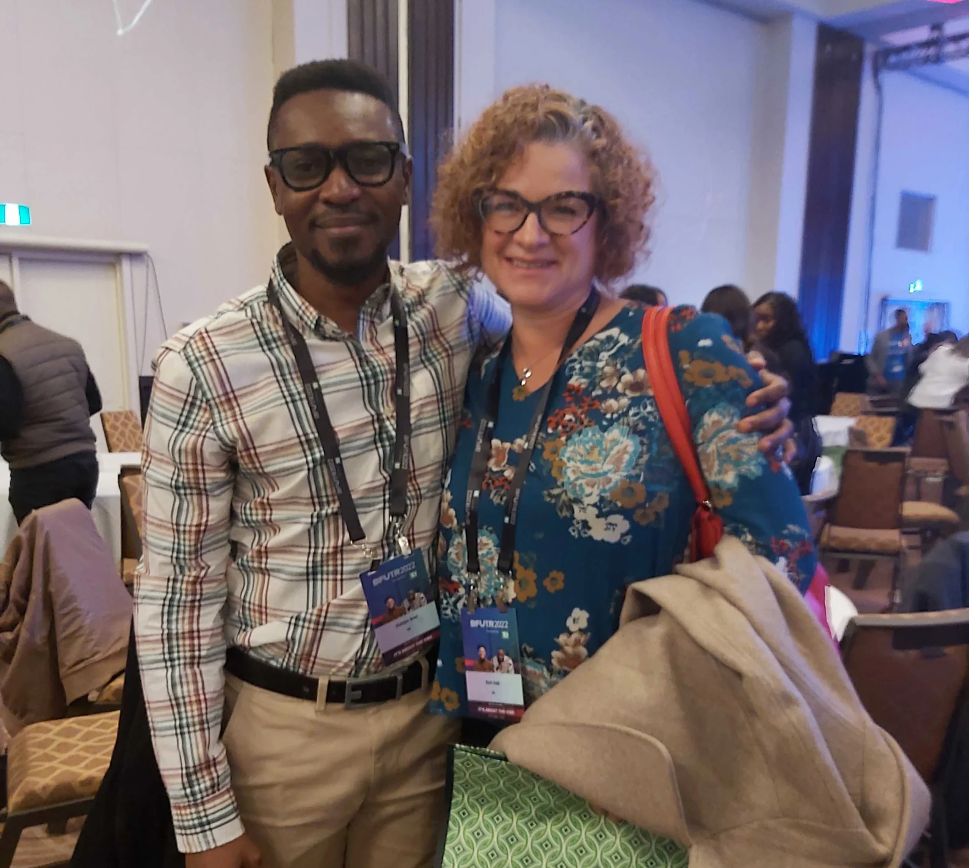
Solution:
<path fill-rule="evenodd" d="M 902 533 L 907 455 L 908 449 L 847 449 L 841 488 L 821 532 L 823 554 L 839 562 L 860 562 L 855 592 L 864 589 L 875 562 L 891 562 L 891 603 L 885 601 L 891 605 L 900 599 L 910 544 Z"/>

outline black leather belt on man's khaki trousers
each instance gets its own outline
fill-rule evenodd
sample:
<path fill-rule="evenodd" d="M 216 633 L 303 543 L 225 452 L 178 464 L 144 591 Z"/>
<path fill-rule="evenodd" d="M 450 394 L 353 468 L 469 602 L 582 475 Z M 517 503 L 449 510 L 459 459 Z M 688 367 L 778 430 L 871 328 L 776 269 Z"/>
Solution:
<path fill-rule="evenodd" d="M 434 677 L 437 663 L 437 648 L 432 647 L 427 652 L 427 681 Z M 270 666 L 260 660 L 250 657 L 239 648 L 230 648 L 226 652 L 226 671 L 236 678 L 271 691 L 284 697 L 308 699 L 315 702 L 320 688 L 320 679 L 300 675 L 278 666 Z M 398 669 L 389 675 L 375 675 L 372 678 L 348 678 L 346 680 L 329 681 L 327 685 L 327 704 L 343 705 L 347 709 L 362 708 L 367 705 L 379 705 L 399 699 L 416 690 L 424 684 L 424 666 L 421 660 L 416 660 L 406 669 Z"/>

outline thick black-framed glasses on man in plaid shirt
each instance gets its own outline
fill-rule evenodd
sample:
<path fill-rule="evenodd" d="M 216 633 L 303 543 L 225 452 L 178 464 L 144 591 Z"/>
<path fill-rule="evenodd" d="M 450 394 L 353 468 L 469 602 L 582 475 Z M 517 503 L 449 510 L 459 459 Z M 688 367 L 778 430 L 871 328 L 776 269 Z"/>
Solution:
<path fill-rule="evenodd" d="M 399 141 L 353 141 L 336 148 L 303 144 L 269 151 L 269 165 L 299 192 L 319 187 L 337 163 L 361 187 L 380 187 L 393 177 L 398 153 Z"/>

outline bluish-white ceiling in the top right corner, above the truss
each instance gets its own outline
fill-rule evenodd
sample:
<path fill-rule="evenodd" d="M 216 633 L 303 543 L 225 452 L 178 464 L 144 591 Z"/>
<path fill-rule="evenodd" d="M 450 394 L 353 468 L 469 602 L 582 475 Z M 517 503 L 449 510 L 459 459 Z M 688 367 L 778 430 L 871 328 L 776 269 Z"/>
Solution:
<path fill-rule="evenodd" d="M 851 31 L 878 47 L 924 42 L 933 24 L 946 35 L 969 32 L 969 0 L 711 0 L 760 21 L 800 13 L 832 27 Z M 969 96 L 969 58 L 913 70 L 913 75 L 934 81 Z"/>

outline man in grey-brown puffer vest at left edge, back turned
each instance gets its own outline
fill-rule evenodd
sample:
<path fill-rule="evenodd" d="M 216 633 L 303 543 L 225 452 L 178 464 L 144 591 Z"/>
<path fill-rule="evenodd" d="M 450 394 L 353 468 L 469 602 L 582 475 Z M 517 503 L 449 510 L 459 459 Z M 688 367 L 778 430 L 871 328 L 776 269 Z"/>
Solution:
<path fill-rule="evenodd" d="M 90 418 L 100 412 L 80 344 L 31 322 L 0 281 L 0 453 L 17 524 L 72 497 L 91 509 L 98 458 Z"/>

